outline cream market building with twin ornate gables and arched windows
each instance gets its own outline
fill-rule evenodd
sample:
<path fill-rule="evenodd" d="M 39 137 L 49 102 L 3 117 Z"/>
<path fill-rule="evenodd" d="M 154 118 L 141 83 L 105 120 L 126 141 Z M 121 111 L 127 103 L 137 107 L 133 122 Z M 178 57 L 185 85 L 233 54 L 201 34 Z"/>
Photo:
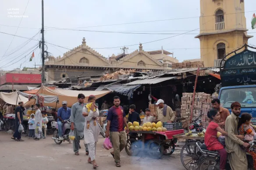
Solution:
<path fill-rule="evenodd" d="M 161 58 L 154 58 L 155 55 L 159 56 L 159 53 L 155 52 L 150 55 L 150 52 L 143 50 L 140 43 L 139 50 L 118 59 L 113 54 L 107 59 L 86 45 L 85 38 L 83 38 L 82 45 L 64 53 L 62 57 L 50 56 L 48 58 L 45 63 L 45 77 L 46 81 L 58 81 L 65 77 L 103 75 L 120 69 L 159 71 L 170 69 L 171 62 L 178 62 L 177 59 L 168 56 L 170 52 L 163 50 Z"/>

